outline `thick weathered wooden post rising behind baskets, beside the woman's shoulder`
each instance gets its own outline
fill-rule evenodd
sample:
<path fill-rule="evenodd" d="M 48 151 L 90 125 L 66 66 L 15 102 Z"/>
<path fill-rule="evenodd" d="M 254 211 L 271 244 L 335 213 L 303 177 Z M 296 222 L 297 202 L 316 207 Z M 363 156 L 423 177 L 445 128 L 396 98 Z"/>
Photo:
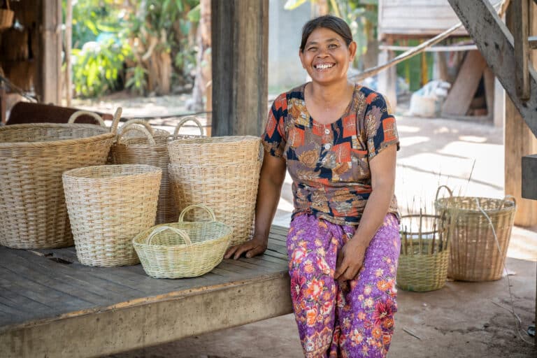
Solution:
<path fill-rule="evenodd" d="M 211 1 L 213 136 L 259 136 L 267 115 L 268 0 Z"/>

